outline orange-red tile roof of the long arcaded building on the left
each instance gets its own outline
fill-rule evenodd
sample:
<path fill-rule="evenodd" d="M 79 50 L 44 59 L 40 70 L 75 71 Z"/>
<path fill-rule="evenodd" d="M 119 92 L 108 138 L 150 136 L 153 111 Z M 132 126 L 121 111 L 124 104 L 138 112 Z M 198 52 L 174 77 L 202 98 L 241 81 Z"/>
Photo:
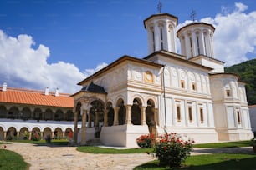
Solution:
<path fill-rule="evenodd" d="M 8 87 L 7 91 L 3 91 L 2 87 L 0 87 L 0 102 L 50 107 L 74 107 L 74 98 L 69 97 L 69 94 L 59 93 L 59 96 L 55 96 L 54 92 L 49 92 L 49 95 L 45 95 L 44 91 L 14 87 Z"/>

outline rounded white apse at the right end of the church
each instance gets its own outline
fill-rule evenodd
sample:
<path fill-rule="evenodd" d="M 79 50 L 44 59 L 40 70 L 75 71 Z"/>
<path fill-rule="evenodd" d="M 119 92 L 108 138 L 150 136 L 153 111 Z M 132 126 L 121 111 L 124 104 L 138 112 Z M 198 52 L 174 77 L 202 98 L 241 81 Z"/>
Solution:
<path fill-rule="evenodd" d="M 210 77 L 216 130 L 219 140 L 248 140 L 253 137 L 244 86 L 232 74 Z"/>

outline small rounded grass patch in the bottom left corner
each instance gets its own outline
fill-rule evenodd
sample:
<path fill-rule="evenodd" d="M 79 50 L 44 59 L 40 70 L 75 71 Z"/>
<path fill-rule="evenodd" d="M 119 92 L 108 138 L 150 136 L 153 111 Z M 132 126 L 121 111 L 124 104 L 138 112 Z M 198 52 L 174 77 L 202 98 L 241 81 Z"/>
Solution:
<path fill-rule="evenodd" d="M 28 169 L 29 164 L 24 162 L 21 155 L 6 149 L 0 149 L 0 169 L 13 170 L 13 169 Z"/>

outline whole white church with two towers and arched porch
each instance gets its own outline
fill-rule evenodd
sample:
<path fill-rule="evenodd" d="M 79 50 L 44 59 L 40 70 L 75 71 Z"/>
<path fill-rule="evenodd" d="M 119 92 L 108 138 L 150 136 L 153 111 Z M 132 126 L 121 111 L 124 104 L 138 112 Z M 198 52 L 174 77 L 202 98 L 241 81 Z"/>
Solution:
<path fill-rule="evenodd" d="M 171 132 L 196 143 L 253 138 L 244 83 L 214 57 L 215 28 L 190 23 L 177 30 L 177 20 L 168 13 L 146 18 L 148 56 L 125 55 L 78 83 L 82 88 L 72 95 L 76 143 L 98 138 L 132 148 L 141 134 Z"/>

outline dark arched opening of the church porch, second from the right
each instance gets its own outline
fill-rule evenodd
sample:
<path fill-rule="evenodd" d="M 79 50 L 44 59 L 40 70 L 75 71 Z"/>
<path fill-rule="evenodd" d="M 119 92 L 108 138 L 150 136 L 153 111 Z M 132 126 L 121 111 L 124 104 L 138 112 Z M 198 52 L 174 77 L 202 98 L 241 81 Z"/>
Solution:
<path fill-rule="evenodd" d="M 131 106 L 131 123 L 134 125 L 141 125 L 141 100 L 139 98 L 135 98 L 132 103 L 133 104 Z"/>

